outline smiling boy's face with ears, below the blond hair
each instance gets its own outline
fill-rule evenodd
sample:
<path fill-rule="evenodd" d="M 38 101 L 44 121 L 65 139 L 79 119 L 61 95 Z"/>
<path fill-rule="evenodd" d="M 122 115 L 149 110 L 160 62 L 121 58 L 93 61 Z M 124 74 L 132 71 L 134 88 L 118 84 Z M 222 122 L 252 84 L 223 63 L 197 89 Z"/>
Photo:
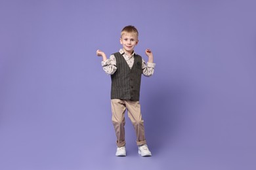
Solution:
<path fill-rule="evenodd" d="M 123 45 L 125 53 L 132 54 L 133 49 L 138 44 L 138 36 L 133 33 L 124 33 L 120 38 L 120 43 Z"/>

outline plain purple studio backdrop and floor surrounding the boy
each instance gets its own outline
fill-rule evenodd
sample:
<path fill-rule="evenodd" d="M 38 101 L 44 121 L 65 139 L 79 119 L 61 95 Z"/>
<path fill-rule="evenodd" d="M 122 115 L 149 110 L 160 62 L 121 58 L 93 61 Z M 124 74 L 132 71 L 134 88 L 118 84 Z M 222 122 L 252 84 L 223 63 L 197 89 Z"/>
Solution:
<path fill-rule="evenodd" d="M 0 1 L 0 169 L 256 169 L 255 1 Z M 150 158 L 118 158 L 96 57 L 139 29 Z"/>

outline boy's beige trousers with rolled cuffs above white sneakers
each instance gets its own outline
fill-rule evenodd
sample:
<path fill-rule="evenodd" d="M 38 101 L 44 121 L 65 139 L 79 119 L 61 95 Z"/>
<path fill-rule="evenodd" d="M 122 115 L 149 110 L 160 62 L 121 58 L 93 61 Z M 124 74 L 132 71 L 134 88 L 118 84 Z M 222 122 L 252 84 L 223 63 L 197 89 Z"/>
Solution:
<path fill-rule="evenodd" d="M 137 145 L 146 144 L 144 135 L 144 121 L 140 112 L 139 101 L 111 99 L 112 123 L 116 131 L 117 147 L 125 146 L 125 110 L 128 110 L 135 133 L 137 136 Z"/>

